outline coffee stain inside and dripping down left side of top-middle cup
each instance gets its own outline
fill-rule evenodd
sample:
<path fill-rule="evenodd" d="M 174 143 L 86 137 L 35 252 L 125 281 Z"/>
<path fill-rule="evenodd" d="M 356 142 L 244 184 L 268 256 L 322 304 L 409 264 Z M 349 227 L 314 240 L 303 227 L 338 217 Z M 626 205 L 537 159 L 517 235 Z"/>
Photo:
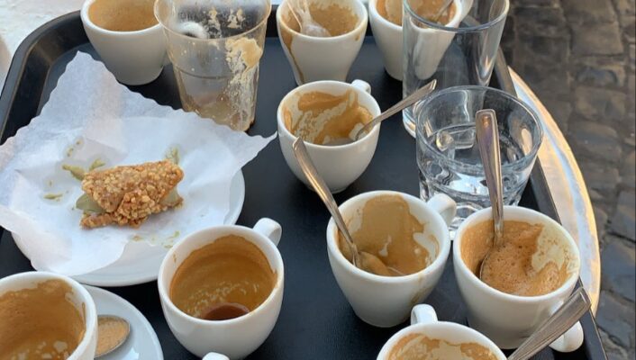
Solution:
<path fill-rule="evenodd" d="M 298 61 L 294 50 L 292 49 L 292 42 L 295 37 L 301 33 L 300 24 L 296 21 L 293 14 L 289 9 L 288 2 L 284 4 L 285 8 L 280 9 L 282 11 L 280 37 L 285 44 L 289 55 L 292 58 L 294 67 L 300 76 L 300 82 L 305 83 L 303 69 L 298 66 Z M 345 33 L 354 31 L 359 24 L 359 17 L 348 6 L 342 6 L 338 2 L 310 2 L 309 13 L 312 15 L 313 20 L 323 26 L 333 36 L 340 36 Z"/>

